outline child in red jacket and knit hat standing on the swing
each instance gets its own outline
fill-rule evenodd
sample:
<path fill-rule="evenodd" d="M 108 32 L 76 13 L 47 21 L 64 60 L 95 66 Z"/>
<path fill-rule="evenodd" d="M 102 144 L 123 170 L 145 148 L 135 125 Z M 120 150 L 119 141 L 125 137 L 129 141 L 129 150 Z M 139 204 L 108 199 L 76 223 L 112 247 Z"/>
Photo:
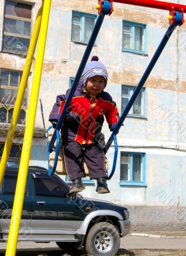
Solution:
<path fill-rule="evenodd" d="M 97 179 L 97 193 L 110 193 L 106 183 L 108 174 L 104 165 L 104 152 L 99 145 L 99 138 L 104 116 L 110 131 L 115 128 L 119 116 L 115 102 L 109 93 L 104 92 L 107 79 L 106 67 L 97 56 L 93 56 L 83 70 L 62 124 L 64 161 L 69 180 L 72 182 L 69 193 L 85 189 L 82 183 L 82 177 L 85 177 L 83 161 L 89 169 L 90 179 Z M 59 120 L 68 92 L 66 95 L 57 96 L 49 116 L 53 127 Z"/>

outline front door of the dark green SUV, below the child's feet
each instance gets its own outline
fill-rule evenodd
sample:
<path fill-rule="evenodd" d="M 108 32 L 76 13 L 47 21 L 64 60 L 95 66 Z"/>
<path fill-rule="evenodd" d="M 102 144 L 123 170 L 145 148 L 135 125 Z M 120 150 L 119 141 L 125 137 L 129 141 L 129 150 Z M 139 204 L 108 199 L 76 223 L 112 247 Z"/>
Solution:
<path fill-rule="evenodd" d="M 66 196 L 68 187 L 54 175 L 32 173 L 32 232 L 61 234 L 75 232 L 82 220 L 82 211 Z"/>

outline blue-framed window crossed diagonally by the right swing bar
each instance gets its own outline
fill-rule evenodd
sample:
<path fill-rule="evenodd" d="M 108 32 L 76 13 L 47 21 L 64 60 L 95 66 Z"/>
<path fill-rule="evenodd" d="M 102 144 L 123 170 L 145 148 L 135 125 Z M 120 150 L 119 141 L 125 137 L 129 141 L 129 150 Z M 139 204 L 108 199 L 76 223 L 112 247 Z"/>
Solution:
<path fill-rule="evenodd" d="M 122 85 L 122 112 L 127 106 L 132 94 L 134 93 L 135 86 Z M 145 117 L 145 88 L 141 90 L 134 104 L 129 111 L 129 116 Z"/>

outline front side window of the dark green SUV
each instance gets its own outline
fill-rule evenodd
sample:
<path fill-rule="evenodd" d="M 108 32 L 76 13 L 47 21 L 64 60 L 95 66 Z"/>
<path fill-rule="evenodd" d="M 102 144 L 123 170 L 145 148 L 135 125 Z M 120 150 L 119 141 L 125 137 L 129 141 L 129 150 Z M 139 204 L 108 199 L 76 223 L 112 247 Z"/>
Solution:
<path fill-rule="evenodd" d="M 40 196 L 64 196 L 66 189 L 56 180 L 46 178 L 34 178 L 36 195 Z"/>

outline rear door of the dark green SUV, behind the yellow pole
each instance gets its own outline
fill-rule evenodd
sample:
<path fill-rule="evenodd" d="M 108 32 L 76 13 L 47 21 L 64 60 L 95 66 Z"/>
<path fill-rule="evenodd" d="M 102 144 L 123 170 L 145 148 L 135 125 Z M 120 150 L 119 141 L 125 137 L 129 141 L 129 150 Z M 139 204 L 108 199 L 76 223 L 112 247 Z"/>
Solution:
<path fill-rule="evenodd" d="M 6 172 L 3 179 L 3 184 L 0 192 L 0 227 L 3 234 L 3 239 L 8 239 L 10 228 L 11 212 L 13 208 L 13 200 L 15 196 L 15 188 L 17 184 L 17 172 Z M 22 216 L 20 221 L 20 230 L 18 240 L 26 240 L 31 236 L 32 230 L 29 227 L 31 223 L 31 207 L 32 198 L 29 194 L 28 184 L 25 188 L 24 204 L 22 208 Z"/>

